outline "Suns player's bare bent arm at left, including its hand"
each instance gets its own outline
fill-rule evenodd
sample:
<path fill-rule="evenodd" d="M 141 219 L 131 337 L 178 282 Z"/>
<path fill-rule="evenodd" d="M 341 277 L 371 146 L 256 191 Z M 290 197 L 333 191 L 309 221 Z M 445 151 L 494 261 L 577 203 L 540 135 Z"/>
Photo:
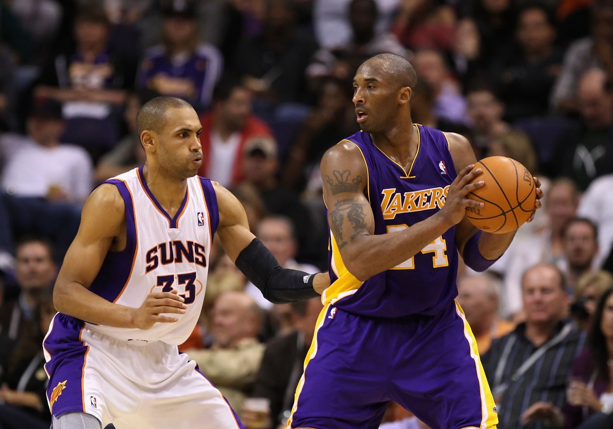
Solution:
<path fill-rule="evenodd" d="M 170 292 L 148 295 L 148 299 L 158 301 L 156 312 L 146 316 L 143 307 L 115 304 L 88 289 L 113 240 L 120 238 L 125 218 L 124 202 L 114 185 L 102 184 L 88 197 L 77 236 L 66 252 L 53 289 L 53 304 L 60 313 L 99 325 L 143 329 L 154 322 L 177 320 L 159 313 L 183 313 L 184 305 L 178 300 L 182 298 Z"/>

